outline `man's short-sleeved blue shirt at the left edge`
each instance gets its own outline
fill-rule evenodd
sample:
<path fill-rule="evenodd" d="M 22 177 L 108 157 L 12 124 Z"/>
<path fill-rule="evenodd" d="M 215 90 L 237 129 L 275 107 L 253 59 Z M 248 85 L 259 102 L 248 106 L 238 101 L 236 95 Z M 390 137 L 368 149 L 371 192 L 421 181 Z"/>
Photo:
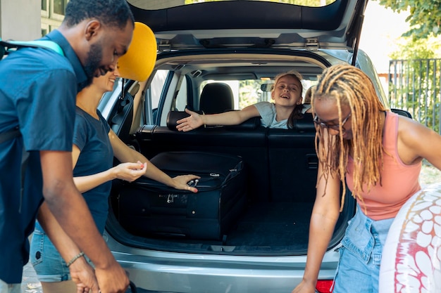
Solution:
<path fill-rule="evenodd" d="M 0 144 L 0 279 L 21 282 L 29 256 L 27 236 L 42 203 L 40 150 L 71 151 L 78 84 L 87 80 L 63 35 L 55 41 L 66 57 L 45 48 L 21 48 L 0 61 L 0 132 L 20 128 L 22 136 Z M 20 193 L 21 159 L 30 153 Z"/>

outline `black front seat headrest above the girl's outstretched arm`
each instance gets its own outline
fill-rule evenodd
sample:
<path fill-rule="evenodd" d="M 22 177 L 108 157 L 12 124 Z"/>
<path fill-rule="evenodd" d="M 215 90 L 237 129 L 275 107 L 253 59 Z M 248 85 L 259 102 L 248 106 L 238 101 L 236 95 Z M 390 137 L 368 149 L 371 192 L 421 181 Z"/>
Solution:
<path fill-rule="evenodd" d="M 216 114 L 234 109 L 234 98 L 228 84 L 213 82 L 202 89 L 199 110 L 205 114 Z"/>

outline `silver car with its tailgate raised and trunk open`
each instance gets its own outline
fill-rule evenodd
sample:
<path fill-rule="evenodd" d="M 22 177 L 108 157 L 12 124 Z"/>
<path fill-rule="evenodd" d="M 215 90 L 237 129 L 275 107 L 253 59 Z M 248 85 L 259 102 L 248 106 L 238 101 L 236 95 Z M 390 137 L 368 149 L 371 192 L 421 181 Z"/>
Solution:
<path fill-rule="evenodd" d="M 279 1 L 129 2 L 135 20 L 156 36 L 156 63 L 147 82 L 121 79 L 104 95 L 101 112 L 125 143 L 149 159 L 170 151 L 242 157 L 247 194 L 228 226 L 215 231 L 218 239 L 194 237 L 181 226 L 194 213 L 177 216 L 173 198 L 163 197 L 161 209 L 154 209 L 139 202 L 139 195 L 130 197 L 132 185 L 115 181 L 104 235 L 108 247 L 139 292 L 291 292 L 304 274 L 316 197 L 311 119 L 299 119 L 292 129 L 266 129 L 257 119 L 187 133 L 176 131 L 170 119 L 185 108 L 200 110 L 206 84 L 230 86 L 229 110 L 240 110 L 271 101 L 271 80 L 280 72 L 300 72 L 306 91 L 325 67 L 337 63 L 360 67 L 386 103 L 371 60 L 358 50 L 367 0 L 328 0 L 318 7 Z M 216 95 L 210 98 L 216 103 Z M 346 196 L 317 292 L 329 292 L 354 207 Z M 197 219 L 194 225 L 198 221 L 213 220 Z"/>

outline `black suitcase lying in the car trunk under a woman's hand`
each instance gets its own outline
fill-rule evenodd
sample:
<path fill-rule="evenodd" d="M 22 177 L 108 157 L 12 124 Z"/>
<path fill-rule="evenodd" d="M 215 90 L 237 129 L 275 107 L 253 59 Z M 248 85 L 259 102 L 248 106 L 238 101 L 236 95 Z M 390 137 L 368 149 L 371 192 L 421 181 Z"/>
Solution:
<path fill-rule="evenodd" d="M 201 176 L 189 183 L 198 193 L 176 190 L 143 176 L 120 190 L 121 226 L 140 236 L 223 239 L 246 202 L 242 158 L 213 152 L 162 152 L 151 163 L 171 177 Z"/>

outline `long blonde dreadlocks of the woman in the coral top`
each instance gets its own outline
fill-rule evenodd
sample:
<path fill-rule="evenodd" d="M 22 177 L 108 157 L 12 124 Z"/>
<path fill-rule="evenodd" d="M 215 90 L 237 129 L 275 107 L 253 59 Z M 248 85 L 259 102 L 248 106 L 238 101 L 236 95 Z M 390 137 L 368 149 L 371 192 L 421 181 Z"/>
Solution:
<path fill-rule="evenodd" d="M 354 154 L 353 196 L 363 201 L 360 191 L 366 185 L 368 192 L 377 183 L 381 184 L 380 171 L 383 168 L 383 128 L 380 116 L 386 109 L 375 93 L 371 79 L 352 65 L 334 65 L 323 71 L 313 91 L 314 100 L 334 99 L 337 103 L 340 131 L 338 137 L 328 138 L 325 150 L 323 127 L 316 126 L 316 152 L 323 167 L 323 176 L 328 182 L 332 171 L 340 176 L 343 185 L 340 211 L 346 194 L 345 174 L 349 151 Z M 342 105 L 351 110 L 352 139 L 343 139 Z M 331 175 L 332 176 L 332 175 Z"/>

